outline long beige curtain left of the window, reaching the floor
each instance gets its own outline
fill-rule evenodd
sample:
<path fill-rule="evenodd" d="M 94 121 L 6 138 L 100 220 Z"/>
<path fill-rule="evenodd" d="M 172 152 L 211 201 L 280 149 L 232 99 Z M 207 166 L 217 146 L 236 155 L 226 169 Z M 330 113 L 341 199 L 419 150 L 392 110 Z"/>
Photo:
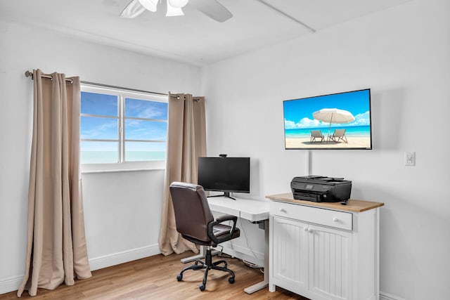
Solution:
<path fill-rule="evenodd" d="M 74 285 L 91 277 L 79 172 L 79 78 L 34 70 L 34 115 L 25 277 L 18 289 Z"/>

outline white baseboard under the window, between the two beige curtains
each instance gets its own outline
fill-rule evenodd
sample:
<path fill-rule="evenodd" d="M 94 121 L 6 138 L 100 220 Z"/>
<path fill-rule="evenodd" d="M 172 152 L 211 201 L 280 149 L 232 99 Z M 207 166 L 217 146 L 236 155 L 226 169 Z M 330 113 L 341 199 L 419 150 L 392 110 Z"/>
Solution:
<path fill-rule="evenodd" d="M 136 259 L 143 259 L 144 257 L 153 256 L 160 253 L 161 251 L 158 244 L 153 244 L 146 247 L 129 249 L 122 252 L 94 257 L 89 259 L 89 266 L 91 267 L 91 270 L 98 270 L 108 268 L 110 266 L 120 265 L 120 263 L 136 261 Z"/>

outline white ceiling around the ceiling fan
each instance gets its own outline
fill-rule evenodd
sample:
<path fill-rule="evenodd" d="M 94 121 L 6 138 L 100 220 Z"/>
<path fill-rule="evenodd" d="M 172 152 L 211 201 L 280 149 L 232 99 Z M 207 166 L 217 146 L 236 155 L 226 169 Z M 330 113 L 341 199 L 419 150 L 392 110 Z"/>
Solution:
<path fill-rule="evenodd" d="M 165 0 L 158 12 L 146 11 L 134 19 L 119 18 L 131 0 L 0 0 L 0 18 L 109 46 L 195 65 L 237 56 L 359 18 L 411 0 L 219 0 L 233 13 L 217 22 L 191 6 L 185 15 L 165 17 Z"/>

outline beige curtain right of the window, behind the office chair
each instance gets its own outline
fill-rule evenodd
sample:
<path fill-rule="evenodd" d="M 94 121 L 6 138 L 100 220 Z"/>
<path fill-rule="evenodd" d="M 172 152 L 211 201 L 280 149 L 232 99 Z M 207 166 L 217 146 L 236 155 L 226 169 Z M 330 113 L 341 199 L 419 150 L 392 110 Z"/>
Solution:
<path fill-rule="evenodd" d="M 174 96 L 178 96 L 174 97 Z M 197 183 L 197 160 L 206 155 L 205 98 L 169 93 L 167 162 L 162 202 L 160 250 L 164 255 L 198 249 L 176 231 L 174 207 L 169 193 L 173 181 Z"/>

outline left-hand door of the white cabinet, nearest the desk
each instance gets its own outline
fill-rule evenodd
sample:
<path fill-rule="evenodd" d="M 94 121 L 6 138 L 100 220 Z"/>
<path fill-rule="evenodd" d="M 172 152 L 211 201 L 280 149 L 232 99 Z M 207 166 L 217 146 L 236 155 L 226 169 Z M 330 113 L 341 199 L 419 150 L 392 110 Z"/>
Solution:
<path fill-rule="evenodd" d="M 308 286 L 308 231 L 299 221 L 274 216 L 273 274 L 276 285 L 293 292 Z"/>

